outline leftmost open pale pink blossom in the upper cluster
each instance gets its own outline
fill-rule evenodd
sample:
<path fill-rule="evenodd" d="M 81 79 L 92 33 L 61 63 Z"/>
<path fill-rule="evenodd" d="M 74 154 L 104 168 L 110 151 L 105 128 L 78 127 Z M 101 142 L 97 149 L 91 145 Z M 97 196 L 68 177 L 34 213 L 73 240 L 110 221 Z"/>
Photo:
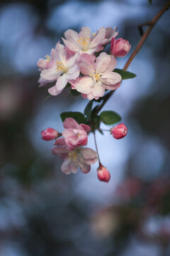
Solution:
<path fill-rule="evenodd" d="M 77 58 L 79 58 L 79 53 L 69 55 L 64 46 L 59 42 L 57 43 L 55 50 L 52 50 L 50 67 L 46 66 L 40 73 L 40 82 L 42 84 L 43 82 L 57 80 L 55 86 L 48 90 L 50 95 L 59 95 L 69 80 L 79 77 L 79 68 L 76 64 Z M 40 64 L 42 64 L 42 61 Z M 40 66 L 42 67 L 43 65 Z"/>

